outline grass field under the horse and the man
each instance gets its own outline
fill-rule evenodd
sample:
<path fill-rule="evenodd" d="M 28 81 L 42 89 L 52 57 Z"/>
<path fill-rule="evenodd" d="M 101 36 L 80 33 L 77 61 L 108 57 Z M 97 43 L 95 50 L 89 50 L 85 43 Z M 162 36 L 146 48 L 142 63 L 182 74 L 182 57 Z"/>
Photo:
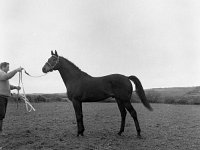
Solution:
<path fill-rule="evenodd" d="M 76 119 L 69 102 L 34 103 L 26 112 L 23 103 L 9 103 L 0 137 L 3 150 L 196 150 L 200 147 L 198 105 L 152 104 L 153 112 L 133 104 L 142 139 L 136 137 L 128 114 L 125 132 L 118 136 L 120 113 L 116 103 L 84 103 L 85 136 L 76 137 Z"/>

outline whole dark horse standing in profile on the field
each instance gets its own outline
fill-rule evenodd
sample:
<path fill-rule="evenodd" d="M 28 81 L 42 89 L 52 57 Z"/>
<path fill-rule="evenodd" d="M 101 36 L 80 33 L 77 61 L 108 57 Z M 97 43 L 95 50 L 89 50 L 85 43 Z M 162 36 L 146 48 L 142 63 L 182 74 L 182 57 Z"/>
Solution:
<path fill-rule="evenodd" d="M 137 119 L 137 113 L 131 105 L 130 99 L 132 95 L 132 80 L 136 87 L 136 93 L 140 97 L 144 106 L 152 110 L 146 99 L 143 87 L 139 79 L 135 76 L 124 76 L 120 74 L 111 74 L 103 77 L 92 77 L 81 71 L 72 62 L 64 57 L 58 56 L 57 52 L 51 51 L 51 57 L 48 59 L 42 71 L 44 73 L 58 70 L 67 88 L 68 98 L 72 101 L 76 119 L 78 132 L 77 136 L 82 135 L 85 130 L 83 125 L 82 102 L 101 101 L 109 97 L 116 99 L 119 110 L 121 112 L 121 128 L 119 135 L 124 132 L 126 110 L 131 114 L 135 122 L 137 136 L 140 137 L 140 126 Z"/>

